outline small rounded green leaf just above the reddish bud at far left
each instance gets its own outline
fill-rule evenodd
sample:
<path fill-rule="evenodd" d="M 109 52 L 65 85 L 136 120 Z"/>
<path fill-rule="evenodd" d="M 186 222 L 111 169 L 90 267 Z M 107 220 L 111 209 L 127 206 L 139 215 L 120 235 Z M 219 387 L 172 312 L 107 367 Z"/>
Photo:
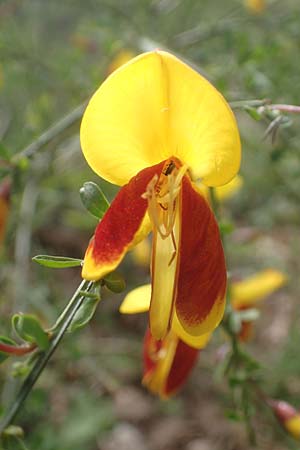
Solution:
<path fill-rule="evenodd" d="M 35 316 L 15 314 L 12 317 L 12 327 L 16 334 L 26 342 L 36 344 L 41 350 L 49 346 L 49 337 Z"/>

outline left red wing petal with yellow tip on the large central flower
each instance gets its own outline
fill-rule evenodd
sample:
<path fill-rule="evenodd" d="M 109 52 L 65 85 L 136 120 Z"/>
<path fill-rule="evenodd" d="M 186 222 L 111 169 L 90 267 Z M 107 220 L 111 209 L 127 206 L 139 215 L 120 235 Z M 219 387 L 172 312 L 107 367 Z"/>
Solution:
<path fill-rule="evenodd" d="M 153 176 L 160 174 L 163 164 L 142 170 L 120 189 L 87 248 L 83 278 L 99 280 L 120 264 L 134 243 L 147 211 L 148 202 L 142 194 Z"/>

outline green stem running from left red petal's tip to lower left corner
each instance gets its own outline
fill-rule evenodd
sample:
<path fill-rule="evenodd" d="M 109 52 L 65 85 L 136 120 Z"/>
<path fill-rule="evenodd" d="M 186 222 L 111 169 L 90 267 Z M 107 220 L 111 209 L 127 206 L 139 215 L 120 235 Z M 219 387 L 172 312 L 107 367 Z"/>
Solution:
<path fill-rule="evenodd" d="M 58 347 L 60 341 L 62 340 L 64 334 L 66 333 L 67 329 L 69 328 L 76 312 L 82 305 L 82 302 L 85 299 L 85 296 L 80 293 L 81 290 L 85 289 L 89 291 L 93 285 L 93 282 L 83 281 L 78 289 L 76 290 L 75 294 L 71 298 L 70 302 L 68 303 L 67 308 L 64 311 L 64 321 L 57 332 L 56 335 L 53 336 L 50 346 L 46 352 L 42 352 L 36 363 L 34 364 L 33 368 L 31 369 L 30 373 L 24 380 L 22 386 L 20 387 L 19 392 L 17 393 L 16 399 L 14 403 L 12 404 L 11 408 L 7 412 L 6 416 L 4 417 L 3 421 L 0 424 L 0 436 L 7 428 L 18 412 L 20 411 L 24 401 L 26 400 L 28 394 L 32 390 L 33 386 L 35 385 L 36 381 L 38 380 L 39 376 L 41 375 L 42 371 L 46 367 L 49 359 L 55 352 L 56 348 Z M 66 312 L 67 311 L 67 312 Z M 67 316 L 67 317 L 66 317 Z"/>

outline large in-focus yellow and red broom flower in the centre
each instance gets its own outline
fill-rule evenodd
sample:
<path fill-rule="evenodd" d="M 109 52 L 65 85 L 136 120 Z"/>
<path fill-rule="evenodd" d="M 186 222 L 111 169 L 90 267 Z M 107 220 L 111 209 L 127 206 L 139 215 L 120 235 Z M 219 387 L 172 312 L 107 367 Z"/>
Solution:
<path fill-rule="evenodd" d="M 223 185 L 239 169 L 224 98 L 173 55 L 145 53 L 94 94 L 81 144 L 92 169 L 123 186 L 88 246 L 83 278 L 114 270 L 152 230 L 152 336 L 164 338 L 174 315 L 191 336 L 212 331 L 224 312 L 226 268 L 218 225 L 194 182 Z"/>

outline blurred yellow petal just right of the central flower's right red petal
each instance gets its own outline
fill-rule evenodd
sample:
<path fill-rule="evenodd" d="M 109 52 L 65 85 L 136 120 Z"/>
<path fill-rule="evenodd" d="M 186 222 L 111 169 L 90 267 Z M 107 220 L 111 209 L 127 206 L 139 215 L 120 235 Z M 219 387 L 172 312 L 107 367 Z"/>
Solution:
<path fill-rule="evenodd" d="M 234 309 L 251 307 L 287 282 L 282 272 L 263 270 L 243 281 L 232 283 L 231 303 Z"/>

